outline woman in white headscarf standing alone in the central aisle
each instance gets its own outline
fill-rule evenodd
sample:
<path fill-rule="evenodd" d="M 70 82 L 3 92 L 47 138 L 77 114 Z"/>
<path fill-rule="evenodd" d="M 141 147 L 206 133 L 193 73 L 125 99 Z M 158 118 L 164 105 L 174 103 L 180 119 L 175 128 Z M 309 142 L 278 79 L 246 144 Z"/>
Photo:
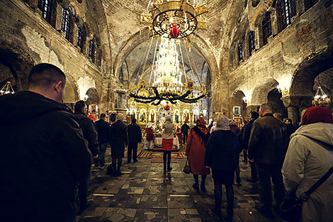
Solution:
<path fill-rule="evenodd" d="M 164 132 L 162 134 L 162 148 L 163 148 L 163 164 L 164 164 L 164 172 L 167 170 L 168 172 L 172 170 L 170 167 L 171 162 L 171 150 L 174 145 L 174 123 L 171 123 L 171 117 L 166 116 L 165 123 L 162 128 Z M 166 155 L 168 155 L 168 163 L 166 167 Z"/>

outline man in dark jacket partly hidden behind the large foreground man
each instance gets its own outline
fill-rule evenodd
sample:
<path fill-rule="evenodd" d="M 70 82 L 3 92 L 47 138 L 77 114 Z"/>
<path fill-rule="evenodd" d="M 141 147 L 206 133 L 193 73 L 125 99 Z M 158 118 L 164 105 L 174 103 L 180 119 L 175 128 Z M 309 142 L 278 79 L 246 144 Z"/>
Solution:
<path fill-rule="evenodd" d="M 86 116 L 86 103 L 83 100 L 77 101 L 74 105 L 74 114 L 79 118 L 79 125 L 82 129 L 84 138 L 88 140 L 88 148 L 93 154 L 94 158 L 98 157 L 98 138 L 94 122 Z M 86 178 L 79 182 L 79 200 L 80 210 L 82 213 L 92 203 L 92 200 L 87 201 L 88 188 L 90 183 L 90 171 L 86 174 Z"/>

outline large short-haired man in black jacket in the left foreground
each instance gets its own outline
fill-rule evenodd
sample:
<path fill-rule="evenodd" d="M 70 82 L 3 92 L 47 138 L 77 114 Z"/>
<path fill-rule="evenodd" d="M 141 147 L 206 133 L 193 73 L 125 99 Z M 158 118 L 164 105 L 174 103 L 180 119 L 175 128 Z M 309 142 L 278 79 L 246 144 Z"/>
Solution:
<path fill-rule="evenodd" d="M 91 167 L 77 118 L 61 103 L 66 78 L 33 67 L 28 91 L 0 96 L 2 221 L 75 221 L 77 182 Z"/>

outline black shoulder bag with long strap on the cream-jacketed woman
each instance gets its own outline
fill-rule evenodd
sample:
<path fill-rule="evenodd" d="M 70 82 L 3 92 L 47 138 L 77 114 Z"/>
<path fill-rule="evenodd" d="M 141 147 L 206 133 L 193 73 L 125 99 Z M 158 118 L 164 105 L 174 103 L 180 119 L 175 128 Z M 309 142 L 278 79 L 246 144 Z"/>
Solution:
<path fill-rule="evenodd" d="M 282 201 L 280 205 L 281 216 L 286 221 L 300 221 L 302 216 L 302 205 L 307 199 L 310 198 L 310 195 L 315 192 L 315 190 L 320 187 L 322 183 L 333 173 L 333 167 L 320 178 L 310 189 L 297 197 L 295 192 L 296 189 L 291 192 L 291 194 Z"/>

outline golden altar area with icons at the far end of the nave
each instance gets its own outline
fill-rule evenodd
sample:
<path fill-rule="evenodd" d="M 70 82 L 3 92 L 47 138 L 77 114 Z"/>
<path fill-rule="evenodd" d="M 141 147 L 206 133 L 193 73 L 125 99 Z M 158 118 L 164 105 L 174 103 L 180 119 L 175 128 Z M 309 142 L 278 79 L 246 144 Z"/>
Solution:
<path fill-rule="evenodd" d="M 176 104 L 170 104 L 167 101 L 162 101 L 159 106 L 154 106 L 152 104 L 137 103 L 134 99 L 128 100 L 128 109 L 126 109 L 127 120 L 130 122 L 131 118 L 137 119 L 137 124 L 139 124 L 142 130 L 143 138 L 143 148 L 149 150 L 159 151 L 162 150 L 162 125 L 165 121 L 166 116 L 170 116 L 172 123 L 174 123 L 174 132 L 176 131 L 176 126 L 181 126 L 187 123 L 191 126 L 196 123 L 196 120 L 200 115 L 205 117 L 206 112 L 201 111 L 201 101 L 193 104 L 187 104 L 183 102 L 177 102 Z M 152 124 L 154 132 L 153 144 L 150 148 L 147 147 L 147 140 L 145 139 L 147 124 Z M 173 151 L 178 151 L 181 148 L 179 140 L 174 133 L 174 146 Z"/>

